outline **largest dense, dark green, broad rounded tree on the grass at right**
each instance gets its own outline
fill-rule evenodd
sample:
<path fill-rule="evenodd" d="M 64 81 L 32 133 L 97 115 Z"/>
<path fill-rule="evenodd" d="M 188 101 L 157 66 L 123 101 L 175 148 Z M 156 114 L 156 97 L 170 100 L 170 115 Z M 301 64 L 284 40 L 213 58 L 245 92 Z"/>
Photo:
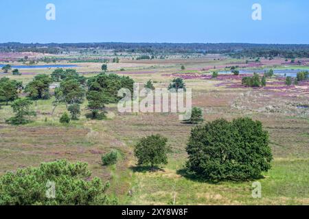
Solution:
<path fill-rule="evenodd" d="M 214 120 L 192 129 L 187 170 L 211 181 L 256 179 L 271 168 L 268 143 L 260 121 Z"/>

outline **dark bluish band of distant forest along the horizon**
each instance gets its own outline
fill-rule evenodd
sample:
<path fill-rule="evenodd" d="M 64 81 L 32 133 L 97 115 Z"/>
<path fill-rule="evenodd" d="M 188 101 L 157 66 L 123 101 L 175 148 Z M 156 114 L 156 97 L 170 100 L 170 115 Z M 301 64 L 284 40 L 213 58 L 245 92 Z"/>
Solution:
<path fill-rule="evenodd" d="M 231 57 L 309 57 L 309 44 L 249 44 L 249 43 L 135 43 L 135 42 L 95 42 L 95 43 L 0 43 L 1 52 L 37 52 L 60 54 L 63 52 L 93 49 L 113 50 L 115 53 L 219 53 Z"/>

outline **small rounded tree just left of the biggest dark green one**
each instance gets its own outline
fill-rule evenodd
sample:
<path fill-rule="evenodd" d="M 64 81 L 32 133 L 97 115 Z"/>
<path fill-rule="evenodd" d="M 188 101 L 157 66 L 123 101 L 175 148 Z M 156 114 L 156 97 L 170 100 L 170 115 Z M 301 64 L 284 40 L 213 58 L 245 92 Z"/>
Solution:
<path fill-rule="evenodd" d="M 170 148 L 166 145 L 167 138 L 160 135 L 141 138 L 134 149 L 138 165 L 149 165 L 153 168 L 159 164 L 168 164 L 167 153 Z"/>

